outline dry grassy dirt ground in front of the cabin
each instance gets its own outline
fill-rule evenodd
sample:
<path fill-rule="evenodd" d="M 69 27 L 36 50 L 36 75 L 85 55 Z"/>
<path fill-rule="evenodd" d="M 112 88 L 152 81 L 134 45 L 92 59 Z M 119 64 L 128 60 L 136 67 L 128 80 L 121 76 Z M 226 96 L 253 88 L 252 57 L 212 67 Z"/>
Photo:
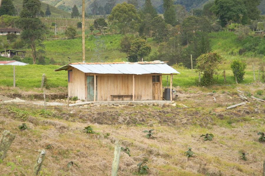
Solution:
<path fill-rule="evenodd" d="M 257 140 L 257 133 L 265 131 L 265 103 L 248 97 L 245 105 L 226 107 L 243 102 L 237 89 L 245 96 L 263 90 L 264 96 L 264 84 L 175 89 L 176 106 L 48 106 L 43 113 L 43 106 L 26 103 L 29 99 L 0 103 L 0 132 L 16 133 L 0 170 L 10 173 L 6 164 L 12 161 L 21 175 L 30 175 L 37 150 L 50 145 L 43 175 L 111 175 L 114 143 L 119 140 L 131 156 L 121 152 L 118 175 L 138 175 L 136 165 L 144 158 L 148 175 L 261 175 L 265 143 Z M 176 109 L 184 105 L 189 108 Z M 21 123 L 29 129 L 20 131 Z M 95 133 L 84 133 L 85 126 Z M 154 137 L 147 139 L 143 131 L 149 129 L 154 129 Z M 206 133 L 213 133 L 213 141 L 200 138 Z M 184 155 L 188 147 L 195 153 L 191 158 Z M 248 153 L 246 161 L 240 159 L 242 152 Z M 77 165 L 67 167 L 70 161 Z"/>

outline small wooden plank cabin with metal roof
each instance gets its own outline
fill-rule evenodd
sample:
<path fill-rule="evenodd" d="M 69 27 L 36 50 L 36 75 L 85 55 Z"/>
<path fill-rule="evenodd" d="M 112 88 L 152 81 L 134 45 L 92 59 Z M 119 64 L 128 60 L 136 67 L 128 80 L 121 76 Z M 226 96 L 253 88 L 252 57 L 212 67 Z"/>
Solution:
<path fill-rule="evenodd" d="M 165 62 L 69 63 L 68 96 L 85 101 L 163 100 L 162 75 L 178 71 Z M 172 97 L 171 97 L 172 100 Z"/>

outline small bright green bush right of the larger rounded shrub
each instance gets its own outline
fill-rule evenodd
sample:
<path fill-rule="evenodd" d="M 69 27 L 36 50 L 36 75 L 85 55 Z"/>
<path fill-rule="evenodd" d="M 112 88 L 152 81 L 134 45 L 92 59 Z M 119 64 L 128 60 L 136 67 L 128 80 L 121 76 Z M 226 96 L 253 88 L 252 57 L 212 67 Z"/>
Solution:
<path fill-rule="evenodd" d="M 240 83 L 244 79 L 246 64 L 240 60 L 234 60 L 231 63 L 231 69 L 237 82 Z"/>

